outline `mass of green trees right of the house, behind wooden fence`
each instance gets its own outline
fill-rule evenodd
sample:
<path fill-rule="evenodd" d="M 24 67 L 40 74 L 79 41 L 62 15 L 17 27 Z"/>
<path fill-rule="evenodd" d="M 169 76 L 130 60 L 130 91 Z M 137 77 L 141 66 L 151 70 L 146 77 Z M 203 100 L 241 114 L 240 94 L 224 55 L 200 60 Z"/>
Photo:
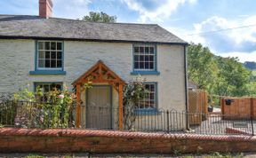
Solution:
<path fill-rule="evenodd" d="M 237 58 L 215 56 L 200 43 L 188 46 L 188 79 L 211 96 L 255 95 L 256 86 L 250 70 Z"/>

